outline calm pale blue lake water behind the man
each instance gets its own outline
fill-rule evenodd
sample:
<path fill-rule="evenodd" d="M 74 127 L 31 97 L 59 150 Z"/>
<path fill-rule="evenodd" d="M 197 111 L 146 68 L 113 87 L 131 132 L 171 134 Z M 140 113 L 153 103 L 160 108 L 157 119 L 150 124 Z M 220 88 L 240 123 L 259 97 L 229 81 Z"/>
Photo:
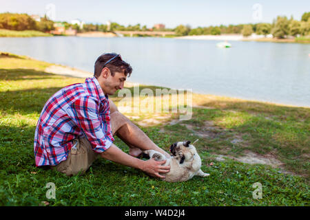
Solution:
<path fill-rule="evenodd" d="M 145 85 L 310 107 L 310 45 L 165 38 L 0 38 L 0 51 L 94 71 L 103 52 L 120 53 Z"/>

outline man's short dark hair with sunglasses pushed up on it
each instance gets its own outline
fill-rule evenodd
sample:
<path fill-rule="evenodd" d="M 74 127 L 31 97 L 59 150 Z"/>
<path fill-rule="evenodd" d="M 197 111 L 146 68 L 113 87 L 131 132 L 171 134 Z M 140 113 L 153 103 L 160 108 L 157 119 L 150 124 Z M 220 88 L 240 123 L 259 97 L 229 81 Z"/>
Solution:
<path fill-rule="evenodd" d="M 105 65 L 105 63 L 114 56 L 115 54 L 103 54 L 97 58 L 94 64 L 94 76 L 96 78 L 101 75 L 103 67 L 110 69 L 112 76 L 114 76 L 115 72 L 124 72 L 125 76 L 130 77 L 130 74 L 132 74 L 132 67 L 129 63 L 123 61 L 121 56 L 114 58 L 114 60 Z"/>

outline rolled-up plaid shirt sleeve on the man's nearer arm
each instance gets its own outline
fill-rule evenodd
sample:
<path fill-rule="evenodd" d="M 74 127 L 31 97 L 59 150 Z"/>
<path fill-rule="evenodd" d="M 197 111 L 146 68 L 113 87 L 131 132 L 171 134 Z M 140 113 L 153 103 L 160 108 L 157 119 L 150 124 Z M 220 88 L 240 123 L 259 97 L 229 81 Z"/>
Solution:
<path fill-rule="evenodd" d="M 72 103 L 72 113 L 77 125 L 81 128 L 87 140 L 90 141 L 93 151 L 102 153 L 110 148 L 114 138 L 109 137 L 107 133 L 111 131 L 104 131 L 111 126 L 104 123 L 110 123 L 100 119 L 99 104 L 90 97 L 83 97 L 75 100 Z"/>

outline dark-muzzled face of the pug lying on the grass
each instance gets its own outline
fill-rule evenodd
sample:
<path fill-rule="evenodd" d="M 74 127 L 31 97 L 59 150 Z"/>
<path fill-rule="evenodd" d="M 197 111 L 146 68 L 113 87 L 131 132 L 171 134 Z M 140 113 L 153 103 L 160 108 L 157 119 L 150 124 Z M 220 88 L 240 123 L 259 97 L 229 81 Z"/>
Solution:
<path fill-rule="evenodd" d="M 170 152 L 175 158 L 180 159 L 180 164 L 191 161 L 197 153 L 194 145 L 189 140 L 185 142 L 176 142 L 170 146 Z"/>

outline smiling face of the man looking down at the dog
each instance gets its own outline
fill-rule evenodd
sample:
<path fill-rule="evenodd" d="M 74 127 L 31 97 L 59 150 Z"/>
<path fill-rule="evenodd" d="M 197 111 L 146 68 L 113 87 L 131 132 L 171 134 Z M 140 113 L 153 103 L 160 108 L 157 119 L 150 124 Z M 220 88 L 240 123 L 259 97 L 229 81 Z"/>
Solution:
<path fill-rule="evenodd" d="M 110 69 L 104 76 L 105 77 L 103 77 L 104 80 L 102 83 L 103 86 L 101 87 L 103 92 L 108 95 L 114 95 L 118 89 L 123 89 L 125 80 L 127 78 L 123 72 L 115 72 L 114 76 L 112 76 Z"/>

